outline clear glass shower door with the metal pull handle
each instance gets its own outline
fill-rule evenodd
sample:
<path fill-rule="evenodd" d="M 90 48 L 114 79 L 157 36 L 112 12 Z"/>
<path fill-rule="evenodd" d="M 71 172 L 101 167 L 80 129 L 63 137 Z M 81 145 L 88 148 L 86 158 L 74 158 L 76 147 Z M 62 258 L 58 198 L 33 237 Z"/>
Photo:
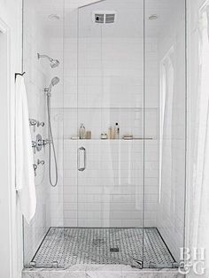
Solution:
<path fill-rule="evenodd" d="M 128 9 L 127 9 L 128 7 Z M 125 24 L 125 20 L 128 24 Z M 86 262 L 143 267 L 143 1 L 78 9 L 77 227 Z"/>

